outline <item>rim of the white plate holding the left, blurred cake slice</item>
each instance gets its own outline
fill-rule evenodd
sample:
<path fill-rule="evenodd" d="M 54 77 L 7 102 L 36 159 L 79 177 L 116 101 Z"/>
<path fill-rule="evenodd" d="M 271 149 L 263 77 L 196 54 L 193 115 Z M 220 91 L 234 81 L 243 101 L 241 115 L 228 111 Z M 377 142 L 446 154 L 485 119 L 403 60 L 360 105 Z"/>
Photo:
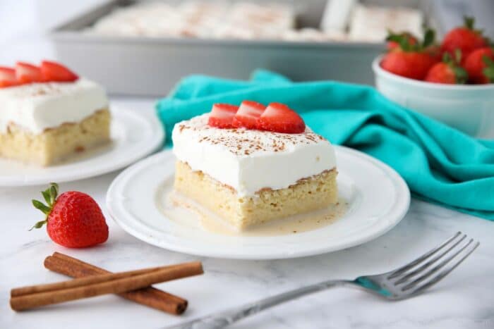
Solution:
<path fill-rule="evenodd" d="M 80 173 L 78 175 L 61 175 L 59 177 L 56 177 L 55 175 L 52 175 L 52 178 L 40 178 L 40 177 L 35 177 L 35 178 L 28 178 L 26 179 L 25 176 L 18 176 L 17 179 L 5 179 L 2 178 L 0 175 L 0 187 L 26 187 L 26 186 L 37 186 L 37 185 L 44 185 L 48 184 L 49 182 L 56 181 L 56 182 L 74 182 L 77 180 L 84 180 L 87 178 L 93 178 L 96 176 L 104 175 L 107 173 L 112 173 L 115 170 L 119 170 L 121 168 L 126 168 L 133 163 L 145 158 L 146 156 L 152 154 L 154 151 L 157 151 L 159 147 L 164 144 L 164 127 L 162 127 L 162 124 L 159 122 L 159 120 L 154 116 L 147 115 L 146 113 L 142 113 L 142 111 L 134 111 L 131 110 L 130 108 L 125 108 L 122 106 L 111 106 L 110 111 L 112 113 L 112 120 L 115 120 L 117 123 L 122 122 L 119 121 L 119 118 L 122 116 L 130 116 L 130 117 L 138 117 L 140 119 L 145 120 L 147 123 L 149 123 L 153 130 L 152 130 L 152 136 L 149 138 L 152 143 L 147 144 L 145 148 L 142 149 L 139 153 L 133 155 L 133 156 L 128 156 L 128 157 L 122 157 L 119 159 L 119 161 L 112 161 L 109 163 L 102 163 L 100 166 L 95 167 L 90 167 L 88 170 L 86 170 L 83 173 Z M 154 119 L 153 119 L 154 118 Z M 126 125 L 123 125 L 124 127 Z M 7 159 L 3 159 L 7 160 Z M 12 160 L 14 161 L 14 160 Z M 71 163 L 72 164 L 76 164 Z"/>

